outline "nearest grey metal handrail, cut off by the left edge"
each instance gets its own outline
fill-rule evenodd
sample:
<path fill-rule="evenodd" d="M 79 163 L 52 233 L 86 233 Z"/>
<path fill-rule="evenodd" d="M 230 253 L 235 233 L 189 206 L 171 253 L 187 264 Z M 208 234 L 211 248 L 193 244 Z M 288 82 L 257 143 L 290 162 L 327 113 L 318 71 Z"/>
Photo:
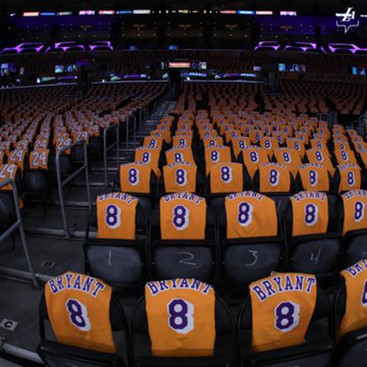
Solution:
<path fill-rule="evenodd" d="M 24 253 L 25 253 L 25 258 L 27 260 L 27 265 L 28 265 L 28 268 L 29 268 L 29 272 L 31 274 L 34 286 L 36 288 L 38 288 L 36 275 L 34 274 L 32 262 L 31 262 L 29 252 L 28 252 L 27 242 L 26 242 L 26 239 L 25 239 L 23 219 L 22 219 L 21 209 L 19 208 L 19 196 L 18 196 L 17 185 L 14 183 L 13 180 L 5 180 L 5 181 L 0 182 L 0 189 L 1 189 L 1 187 L 4 187 L 8 184 L 10 184 L 12 186 L 14 206 L 15 206 L 15 212 L 16 212 L 16 215 L 17 215 L 17 221 L 15 223 L 13 223 L 8 229 L 6 229 L 4 233 L 2 233 L 0 235 L 0 242 L 4 241 L 9 235 L 11 235 L 17 229 L 19 229 L 19 232 L 21 234 L 23 250 L 24 250 Z M 4 270 L 6 270 L 6 269 L 4 269 Z"/>

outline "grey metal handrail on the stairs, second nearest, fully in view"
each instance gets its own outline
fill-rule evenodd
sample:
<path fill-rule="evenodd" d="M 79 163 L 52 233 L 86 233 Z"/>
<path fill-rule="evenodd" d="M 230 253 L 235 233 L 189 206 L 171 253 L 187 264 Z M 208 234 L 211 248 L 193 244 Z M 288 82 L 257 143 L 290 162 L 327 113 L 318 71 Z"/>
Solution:
<path fill-rule="evenodd" d="M 76 145 L 81 145 L 83 144 L 84 147 L 84 164 L 78 168 L 75 172 L 73 172 L 72 174 L 70 174 L 64 181 L 61 181 L 61 172 L 60 172 L 60 155 L 62 153 L 64 153 L 66 150 L 71 149 L 72 147 L 76 146 Z M 69 238 L 70 233 L 69 233 L 69 229 L 68 229 L 68 223 L 66 220 L 66 214 L 65 214 L 65 204 L 64 204 L 64 196 L 63 196 L 63 187 L 66 184 L 69 184 L 69 182 L 76 177 L 80 172 L 85 171 L 85 175 L 86 175 L 86 184 L 87 184 L 87 195 L 88 195 L 88 206 L 91 209 L 92 208 L 92 203 L 91 203 L 91 189 L 90 189 L 90 184 L 89 184 L 89 176 L 88 176 L 88 156 L 87 156 L 87 144 L 85 142 L 85 140 L 80 139 L 75 141 L 72 144 L 69 144 L 63 148 L 61 148 L 57 153 L 56 153 L 56 175 L 57 175 L 57 186 L 58 186 L 58 190 L 59 190 L 59 197 L 60 197 L 60 208 L 61 208 L 61 215 L 62 215 L 62 219 L 63 219 L 63 226 L 64 226 L 64 232 L 65 232 L 65 236 L 66 238 Z"/>

